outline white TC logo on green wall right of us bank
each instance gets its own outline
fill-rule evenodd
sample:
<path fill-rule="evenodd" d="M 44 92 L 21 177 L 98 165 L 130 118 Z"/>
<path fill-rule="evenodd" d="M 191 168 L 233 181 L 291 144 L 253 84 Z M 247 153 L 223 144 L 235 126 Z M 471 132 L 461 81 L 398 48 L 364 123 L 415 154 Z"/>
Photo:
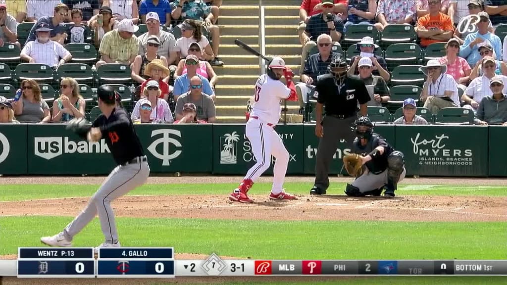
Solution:
<path fill-rule="evenodd" d="M 169 166 L 171 165 L 171 160 L 182 154 L 182 150 L 179 149 L 182 147 L 181 142 L 179 142 L 176 138 L 171 137 L 171 135 L 181 138 L 182 132 L 172 129 L 153 130 L 152 137 L 157 135 L 162 135 L 162 137 L 155 139 L 148 147 L 148 150 L 154 157 L 162 160 L 162 166 Z M 159 145 L 161 145 L 161 147 L 159 147 Z M 173 147 L 170 147 L 169 145 L 172 145 Z M 159 153 L 157 148 L 159 150 L 162 148 L 162 153 Z"/>

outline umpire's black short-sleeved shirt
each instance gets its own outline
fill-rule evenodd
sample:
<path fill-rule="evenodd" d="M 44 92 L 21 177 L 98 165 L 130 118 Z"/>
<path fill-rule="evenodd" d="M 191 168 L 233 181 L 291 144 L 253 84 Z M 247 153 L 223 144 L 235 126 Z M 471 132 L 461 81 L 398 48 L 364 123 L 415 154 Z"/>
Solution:
<path fill-rule="evenodd" d="M 345 83 L 338 86 L 332 74 L 324 75 L 317 81 L 314 96 L 317 97 L 317 102 L 325 105 L 326 115 L 345 117 L 356 115 L 357 102 L 366 104 L 370 101 L 370 95 L 363 81 L 347 76 Z"/>

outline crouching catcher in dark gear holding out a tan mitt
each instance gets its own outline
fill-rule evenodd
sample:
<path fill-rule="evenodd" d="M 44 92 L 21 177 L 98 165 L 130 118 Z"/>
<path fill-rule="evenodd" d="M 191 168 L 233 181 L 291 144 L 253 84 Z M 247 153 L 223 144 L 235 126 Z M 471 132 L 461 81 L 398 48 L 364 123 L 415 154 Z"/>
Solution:
<path fill-rule="evenodd" d="M 354 122 L 354 139 L 351 154 L 343 157 L 345 169 L 355 176 L 347 184 L 345 194 L 352 197 L 367 195 L 394 197 L 397 184 L 405 178 L 403 153 L 395 151 L 379 134 L 373 132 L 373 123 L 366 116 Z"/>

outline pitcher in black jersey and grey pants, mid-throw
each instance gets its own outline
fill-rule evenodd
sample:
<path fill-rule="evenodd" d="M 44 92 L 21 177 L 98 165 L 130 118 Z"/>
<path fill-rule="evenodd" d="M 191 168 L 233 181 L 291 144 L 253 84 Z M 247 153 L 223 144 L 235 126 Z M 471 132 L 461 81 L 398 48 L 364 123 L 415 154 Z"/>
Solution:
<path fill-rule="evenodd" d="M 71 246 L 74 236 L 98 213 L 100 227 L 105 237 L 105 241 L 99 247 L 120 247 L 111 201 L 143 185 L 150 175 L 148 160 L 130 116 L 123 109 L 116 108 L 116 92 L 113 87 L 100 86 L 97 97 L 102 114 L 83 136 L 86 136 L 88 141 L 105 139 L 118 166 L 107 176 L 74 221 L 60 233 L 41 238 L 43 243 L 50 246 Z"/>

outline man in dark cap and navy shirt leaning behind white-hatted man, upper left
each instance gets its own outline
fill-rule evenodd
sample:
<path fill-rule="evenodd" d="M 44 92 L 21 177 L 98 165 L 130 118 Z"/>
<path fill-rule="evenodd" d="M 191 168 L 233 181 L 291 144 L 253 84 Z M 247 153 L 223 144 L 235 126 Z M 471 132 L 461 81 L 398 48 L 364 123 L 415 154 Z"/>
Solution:
<path fill-rule="evenodd" d="M 46 1 L 35 1 L 38 3 L 42 3 L 43 5 L 48 5 L 50 3 Z M 53 1 L 49 1 L 53 2 Z M 60 1 L 58 1 L 60 2 Z M 26 4 L 28 7 L 28 3 Z M 39 4 L 38 4 L 39 5 Z M 50 33 L 50 40 L 54 42 L 58 42 L 60 45 L 65 44 L 65 40 L 67 39 L 67 33 L 64 21 L 68 16 L 68 7 L 65 4 L 59 3 L 58 5 L 54 6 L 53 8 L 53 16 L 44 16 L 38 18 L 37 22 L 33 25 L 33 27 L 30 30 L 30 33 L 28 34 L 28 38 L 26 39 L 26 43 L 35 41 L 37 39 L 35 35 L 35 30 L 40 26 L 41 23 L 48 24 L 48 27 L 51 29 Z M 29 17 L 29 16 L 28 16 Z"/>

